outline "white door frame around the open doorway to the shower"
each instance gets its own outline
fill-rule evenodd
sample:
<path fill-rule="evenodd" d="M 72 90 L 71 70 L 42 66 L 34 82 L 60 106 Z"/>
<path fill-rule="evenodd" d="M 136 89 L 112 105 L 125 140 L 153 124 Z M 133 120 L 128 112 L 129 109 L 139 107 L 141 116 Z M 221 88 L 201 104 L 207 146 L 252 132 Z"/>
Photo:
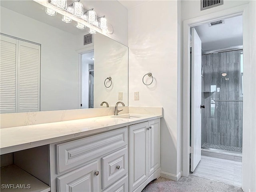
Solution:
<path fill-rule="evenodd" d="M 201 24 L 212 22 L 215 20 L 227 19 L 235 16 L 243 16 L 243 52 L 244 58 L 243 62 L 250 65 L 250 31 L 249 31 L 249 4 L 244 4 L 234 8 L 214 12 L 211 14 L 206 14 L 204 16 L 199 16 L 196 18 L 188 19 L 183 21 L 183 171 L 182 176 L 188 176 L 190 173 L 189 162 L 190 162 L 190 28 L 195 27 Z M 253 79 L 253 74 L 249 72 L 249 68 L 244 68 L 244 73 L 248 78 L 244 79 L 244 85 L 250 84 L 250 78 Z M 253 99 L 250 97 L 249 89 L 244 86 L 244 96 L 246 95 L 247 99 Z M 243 105 L 243 117 L 244 114 L 250 113 L 250 109 L 245 108 Z M 248 135 L 249 130 L 246 129 L 245 120 L 243 120 L 243 148 L 245 136 Z M 243 151 L 244 156 L 244 151 Z M 246 180 L 246 174 L 244 172 L 245 163 L 249 163 L 249 160 L 243 158 L 242 168 L 243 168 L 243 177 L 242 177 L 242 188 L 244 180 Z"/>

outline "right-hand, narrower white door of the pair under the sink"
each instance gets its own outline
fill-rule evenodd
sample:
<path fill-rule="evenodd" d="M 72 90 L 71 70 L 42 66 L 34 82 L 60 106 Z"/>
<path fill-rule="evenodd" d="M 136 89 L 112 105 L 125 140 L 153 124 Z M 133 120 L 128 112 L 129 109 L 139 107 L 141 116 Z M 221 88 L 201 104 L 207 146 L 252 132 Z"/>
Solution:
<path fill-rule="evenodd" d="M 160 119 L 149 121 L 148 130 L 149 176 L 160 167 Z"/>

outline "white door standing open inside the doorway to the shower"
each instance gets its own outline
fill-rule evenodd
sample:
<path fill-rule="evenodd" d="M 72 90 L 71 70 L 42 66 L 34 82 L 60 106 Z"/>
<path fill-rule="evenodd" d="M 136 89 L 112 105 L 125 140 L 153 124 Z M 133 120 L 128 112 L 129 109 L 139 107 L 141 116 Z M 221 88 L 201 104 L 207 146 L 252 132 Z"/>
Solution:
<path fill-rule="evenodd" d="M 201 160 L 202 43 L 192 28 L 191 53 L 191 166 L 194 172 Z"/>

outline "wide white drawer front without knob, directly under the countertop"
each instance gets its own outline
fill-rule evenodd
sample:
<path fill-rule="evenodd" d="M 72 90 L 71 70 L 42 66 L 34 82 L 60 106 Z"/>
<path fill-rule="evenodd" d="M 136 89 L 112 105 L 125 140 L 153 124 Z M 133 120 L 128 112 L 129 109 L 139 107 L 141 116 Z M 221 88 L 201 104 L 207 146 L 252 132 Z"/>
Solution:
<path fill-rule="evenodd" d="M 127 145 L 127 127 L 70 142 L 56 144 L 56 173 L 82 166 L 86 162 Z"/>

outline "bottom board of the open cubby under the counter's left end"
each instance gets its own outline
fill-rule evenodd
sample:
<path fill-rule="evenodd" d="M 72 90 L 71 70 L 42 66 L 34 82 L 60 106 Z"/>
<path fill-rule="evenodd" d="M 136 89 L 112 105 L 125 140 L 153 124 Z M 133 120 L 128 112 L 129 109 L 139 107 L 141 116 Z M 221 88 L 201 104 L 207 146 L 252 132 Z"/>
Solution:
<path fill-rule="evenodd" d="M 15 164 L 1 167 L 1 192 L 49 192 L 51 188 Z"/>

